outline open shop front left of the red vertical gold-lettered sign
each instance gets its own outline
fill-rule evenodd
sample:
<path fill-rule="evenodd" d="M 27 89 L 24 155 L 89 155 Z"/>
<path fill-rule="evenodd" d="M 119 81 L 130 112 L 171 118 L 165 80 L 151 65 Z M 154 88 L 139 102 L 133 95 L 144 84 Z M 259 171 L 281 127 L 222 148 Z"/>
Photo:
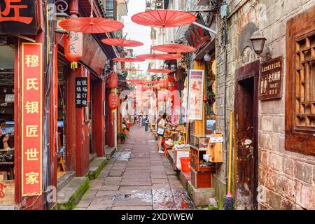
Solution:
<path fill-rule="evenodd" d="M 3 36 L 0 52 L 0 207 L 8 207 L 15 203 L 15 41 Z"/>

